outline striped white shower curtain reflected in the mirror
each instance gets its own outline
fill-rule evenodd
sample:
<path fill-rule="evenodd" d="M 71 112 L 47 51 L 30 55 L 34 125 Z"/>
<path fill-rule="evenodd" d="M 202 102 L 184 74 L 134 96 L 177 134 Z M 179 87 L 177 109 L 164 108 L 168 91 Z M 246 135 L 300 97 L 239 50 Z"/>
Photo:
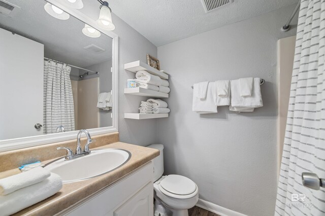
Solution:
<path fill-rule="evenodd" d="M 56 133 L 60 125 L 66 131 L 75 130 L 70 72 L 66 64 L 44 61 L 44 134 Z"/>

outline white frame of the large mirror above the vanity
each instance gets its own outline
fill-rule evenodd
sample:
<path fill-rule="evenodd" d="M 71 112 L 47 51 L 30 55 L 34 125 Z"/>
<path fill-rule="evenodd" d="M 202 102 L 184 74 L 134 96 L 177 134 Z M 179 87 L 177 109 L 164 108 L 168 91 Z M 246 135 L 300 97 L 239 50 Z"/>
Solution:
<path fill-rule="evenodd" d="M 113 96 L 113 126 L 109 127 L 99 127 L 87 129 L 91 136 L 107 134 L 118 131 L 118 35 L 112 31 L 103 30 L 99 27 L 95 20 L 91 19 L 87 15 L 78 11 L 77 9 L 71 8 L 68 5 L 62 3 L 60 0 L 45 0 L 46 2 L 62 9 L 64 12 L 67 12 L 71 16 L 77 18 L 78 20 L 90 25 L 91 27 L 99 30 L 103 34 L 111 37 L 113 39 L 112 46 L 112 96 Z M 98 11 L 99 13 L 100 11 Z M 73 132 L 64 132 L 58 134 L 48 134 L 48 135 L 39 135 L 32 137 L 22 137 L 9 140 L 0 141 L 0 152 L 21 149 L 31 146 L 39 146 L 49 143 L 62 142 L 67 140 L 73 140 L 77 138 L 78 131 Z"/>

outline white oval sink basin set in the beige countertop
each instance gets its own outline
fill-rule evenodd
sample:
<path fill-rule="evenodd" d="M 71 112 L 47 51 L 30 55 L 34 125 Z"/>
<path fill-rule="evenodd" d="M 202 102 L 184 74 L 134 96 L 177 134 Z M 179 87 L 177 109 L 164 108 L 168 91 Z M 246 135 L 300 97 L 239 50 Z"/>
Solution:
<path fill-rule="evenodd" d="M 100 176 L 119 168 L 131 158 L 122 149 L 96 149 L 91 154 L 73 160 L 59 158 L 45 165 L 45 169 L 59 175 L 63 183 L 72 183 Z"/>

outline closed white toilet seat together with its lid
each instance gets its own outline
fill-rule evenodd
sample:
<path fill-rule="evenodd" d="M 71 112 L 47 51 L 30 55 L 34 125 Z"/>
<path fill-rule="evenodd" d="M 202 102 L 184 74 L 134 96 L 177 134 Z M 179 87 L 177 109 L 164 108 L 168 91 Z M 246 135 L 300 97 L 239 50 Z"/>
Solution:
<path fill-rule="evenodd" d="M 169 175 L 159 182 L 161 193 L 177 198 L 188 199 L 198 194 L 198 186 L 190 179 L 180 175 Z"/>

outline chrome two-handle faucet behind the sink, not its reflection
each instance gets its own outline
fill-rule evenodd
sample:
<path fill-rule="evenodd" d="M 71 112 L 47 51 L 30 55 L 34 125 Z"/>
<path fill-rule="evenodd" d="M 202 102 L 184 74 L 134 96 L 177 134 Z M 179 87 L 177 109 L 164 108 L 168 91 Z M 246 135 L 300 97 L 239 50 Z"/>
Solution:
<path fill-rule="evenodd" d="M 87 137 L 87 143 L 86 143 L 83 151 L 82 151 L 81 146 L 80 146 L 80 138 L 81 138 L 82 133 L 85 133 L 85 135 Z M 72 160 L 72 159 L 75 159 L 75 158 L 90 154 L 91 151 L 89 149 L 89 145 L 91 143 L 93 143 L 93 142 L 95 142 L 95 140 L 91 140 L 89 132 L 86 129 L 81 129 L 79 131 L 78 135 L 77 135 L 77 148 L 76 148 L 76 153 L 75 154 L 72 152 L 72 150 L 70 148 L 67 148 L 67 147 L 58 147 L 56 149 L 57 150 L 60 150 L 60 149 L 67 150 L 67 155 L 65 157 L 65 160 Z"/>

